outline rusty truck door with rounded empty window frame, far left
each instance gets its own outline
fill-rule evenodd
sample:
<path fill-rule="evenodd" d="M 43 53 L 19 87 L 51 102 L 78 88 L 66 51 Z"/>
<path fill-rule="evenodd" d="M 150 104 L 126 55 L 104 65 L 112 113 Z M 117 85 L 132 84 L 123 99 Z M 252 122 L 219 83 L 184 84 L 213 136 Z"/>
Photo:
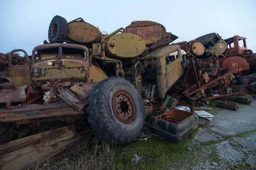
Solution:
<path fill-rule="evenodd" d="M 18 52 L 23 55 L 19 55 Z M 26 51 L 17 49 L 10 52 L 7 73 L 8 77 L 13 79 L 16 87 L 31 83 L 29 67 L 30 59 Z"/>

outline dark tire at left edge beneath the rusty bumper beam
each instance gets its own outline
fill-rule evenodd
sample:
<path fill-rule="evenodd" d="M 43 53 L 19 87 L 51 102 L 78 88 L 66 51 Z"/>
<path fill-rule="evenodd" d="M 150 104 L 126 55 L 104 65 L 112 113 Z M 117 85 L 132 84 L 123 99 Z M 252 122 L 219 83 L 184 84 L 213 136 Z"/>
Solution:
<path fill-rule="evenodd" d="M 0 144 L 9 142 L 13 139 L 12 124 L 0 122 Z"/>

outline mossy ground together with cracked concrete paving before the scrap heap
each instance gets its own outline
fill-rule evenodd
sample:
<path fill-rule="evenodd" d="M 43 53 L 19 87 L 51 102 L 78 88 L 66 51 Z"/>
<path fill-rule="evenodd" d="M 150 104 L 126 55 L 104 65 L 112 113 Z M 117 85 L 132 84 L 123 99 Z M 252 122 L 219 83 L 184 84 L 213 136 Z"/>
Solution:
<path fill-rule="evenodd" d="M 214 108 L 210 125 L 179 143 L 159 136 L 116 148 L 120 170 L 256 170 L 256 99 L 238 111 Z"/>

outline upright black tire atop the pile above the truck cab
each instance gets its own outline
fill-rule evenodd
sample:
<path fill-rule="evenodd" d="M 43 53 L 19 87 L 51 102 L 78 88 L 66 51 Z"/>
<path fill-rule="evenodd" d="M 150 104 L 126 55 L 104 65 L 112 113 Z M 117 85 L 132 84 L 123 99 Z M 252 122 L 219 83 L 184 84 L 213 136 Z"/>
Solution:
<path fill-rule="evenodd" d="M 67 38 L 67 20 L 61 16 L 56 15 L 48 30 L 48 38 L 50 43 L 62 43 Z"/>

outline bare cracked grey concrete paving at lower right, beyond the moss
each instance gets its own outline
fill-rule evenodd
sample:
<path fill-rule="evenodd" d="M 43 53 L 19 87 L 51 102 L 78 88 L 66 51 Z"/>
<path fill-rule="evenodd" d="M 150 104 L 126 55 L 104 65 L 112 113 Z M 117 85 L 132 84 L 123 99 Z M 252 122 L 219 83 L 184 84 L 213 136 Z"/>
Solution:
<path fill-rule="evenodd" d="M 241 106 L 216 113 L 209 127 L 201 127 L 195 136 L 201 144 L 217 147 L 221 161 L 213 169 L 256 169 L 256 99 Z"/>

